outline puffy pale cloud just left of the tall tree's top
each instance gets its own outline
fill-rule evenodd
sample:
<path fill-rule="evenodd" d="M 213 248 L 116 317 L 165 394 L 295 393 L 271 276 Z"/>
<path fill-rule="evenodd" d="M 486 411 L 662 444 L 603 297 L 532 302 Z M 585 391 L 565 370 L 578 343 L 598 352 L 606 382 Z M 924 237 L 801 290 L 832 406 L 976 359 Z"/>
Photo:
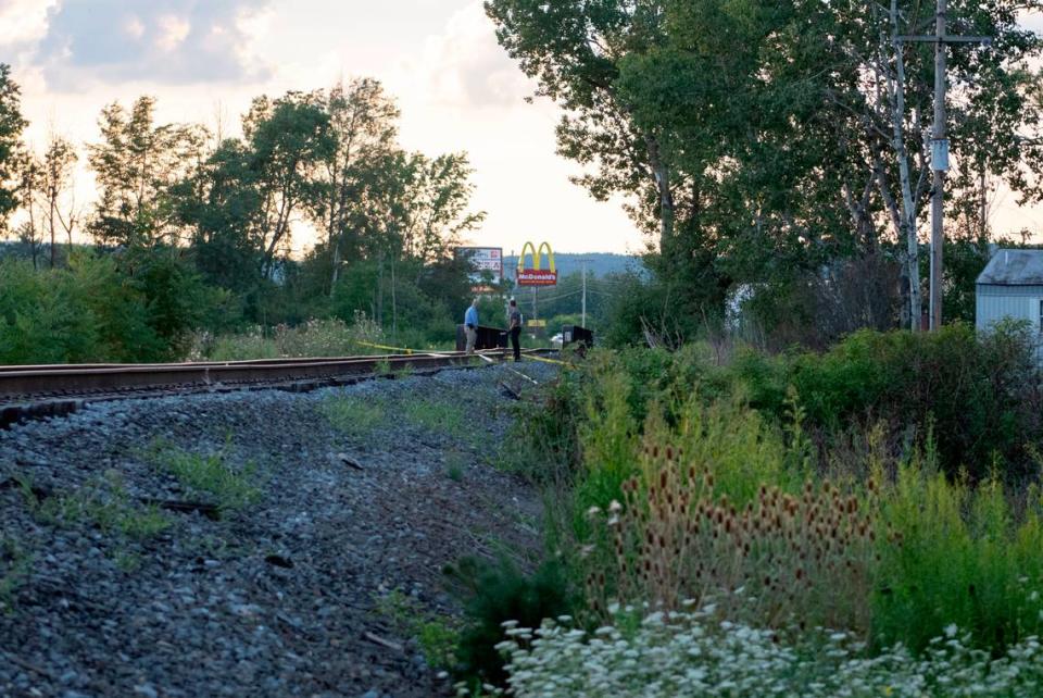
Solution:
<path fill-rule="evenodd" d="M 461 108 L 515 105 L 532 85 L 497 42 L 480 0 L 454 14 L 424 45 L 414 75 L 431 101 Z"/>

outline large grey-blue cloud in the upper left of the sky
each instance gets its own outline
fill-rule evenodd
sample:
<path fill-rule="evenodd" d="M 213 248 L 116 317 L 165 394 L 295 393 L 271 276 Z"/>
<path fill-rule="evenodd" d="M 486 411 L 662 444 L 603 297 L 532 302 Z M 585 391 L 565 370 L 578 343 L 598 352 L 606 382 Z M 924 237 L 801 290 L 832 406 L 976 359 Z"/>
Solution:
<path fill-rule="evenodd" d="M 18 0 L 15 0 L 18 1 Z M 265 79 L 254 54 L 271 0 L 62 0 L 34 63 L 53 89 L 148 80 L 168 85 Z"/>

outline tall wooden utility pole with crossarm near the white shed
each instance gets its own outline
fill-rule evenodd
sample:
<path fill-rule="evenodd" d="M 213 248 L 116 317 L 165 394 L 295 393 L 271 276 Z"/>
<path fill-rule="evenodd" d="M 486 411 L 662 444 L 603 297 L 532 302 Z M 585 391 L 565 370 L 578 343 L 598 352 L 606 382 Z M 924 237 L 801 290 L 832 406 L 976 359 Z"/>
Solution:
<path fill-rule="evenodd" d="M 945 91 L 947 66 L 945 50 L 950 43 L 992 43 L 988 36 L 951 36 L 947 32 L 948 0 L 937 0 L 933 36 L 900 36 L 899 41 L 934 45 L 934 125 L 931 128 L 931 329 L 942 326 L 942 250 L 945 245 L 945 173 L 948 171 L 948 138 L 945 133 Z M 901 47 L 895 47 L 901 51 Z"/>

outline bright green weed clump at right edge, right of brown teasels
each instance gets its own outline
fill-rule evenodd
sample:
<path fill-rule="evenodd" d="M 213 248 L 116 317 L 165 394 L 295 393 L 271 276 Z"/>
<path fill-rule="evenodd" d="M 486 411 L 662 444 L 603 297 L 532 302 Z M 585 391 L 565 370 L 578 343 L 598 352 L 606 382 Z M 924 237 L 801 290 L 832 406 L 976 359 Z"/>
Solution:
<path fill-rule="evenodd" d="M 1043 632 L 1043 521 L 1031 488 L 1020 520 L 992 478 L 951 483 L 931 453 L 900 466 L 881 498 L 893 532 L 882 545 L 874 627 L 880 643 L 925 648 L 950 623 L 1000 650 Z"/>

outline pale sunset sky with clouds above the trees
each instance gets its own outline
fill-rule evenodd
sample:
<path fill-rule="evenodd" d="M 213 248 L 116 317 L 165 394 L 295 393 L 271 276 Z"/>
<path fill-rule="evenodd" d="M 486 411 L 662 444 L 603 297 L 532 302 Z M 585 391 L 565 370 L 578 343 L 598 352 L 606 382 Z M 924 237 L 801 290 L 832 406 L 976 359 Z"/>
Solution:
<path fill-rule="evenodd" d="M 1043 29 L 1039 16 L 1026 22 Z M 0 0 L 0 62 L 22 86 L 29 142 L 50 133 L 99 138 L 102 107 L 153 95 L 156 119 L 225 135 L 259 95 L 375 77 L 395 96 L 402 145 L 429 155 L 467 151 L 474 208 L 488 217 L 469 242 L 508 253 L 526 241 L 563 252 L 640 252 L 645 238 L 618 201 L 573 185 L 555 154 L 557 111 L 527 103 L 535 85 L 497 43 L 480 0 Z M 93 190 L 78 174 L 80 200 Z M 997 233 L 1043 230 L 1043 209 L 997 192 Z M 314 240 L 301 229 L 294 252 Z"/>

